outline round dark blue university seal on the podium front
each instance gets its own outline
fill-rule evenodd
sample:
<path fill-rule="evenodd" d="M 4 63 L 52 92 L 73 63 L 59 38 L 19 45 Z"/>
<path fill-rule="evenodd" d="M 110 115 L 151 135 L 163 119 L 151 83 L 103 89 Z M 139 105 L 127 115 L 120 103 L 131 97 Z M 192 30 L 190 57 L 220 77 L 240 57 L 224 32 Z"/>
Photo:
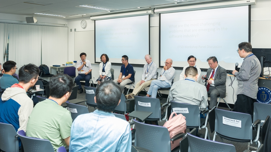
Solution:
<path fill-rule="evenodd" d="M 271 91 L 266 87 L 259 87 L 257 93 L 257 102 L 267 103 L 271 102 Z"/>

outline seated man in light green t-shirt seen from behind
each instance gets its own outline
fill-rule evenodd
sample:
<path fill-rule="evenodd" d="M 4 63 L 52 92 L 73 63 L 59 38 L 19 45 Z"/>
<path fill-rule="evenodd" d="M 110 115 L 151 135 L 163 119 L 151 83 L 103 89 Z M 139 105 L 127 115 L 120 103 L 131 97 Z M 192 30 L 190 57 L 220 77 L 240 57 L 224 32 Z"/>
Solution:
<path fill-rule="evenodd" d="M 70 127 L 73 120 L 70 111 L 61 105 L 70 97 L 73 79 L 67 74 L 55 75 L 50 79 L 49 88 L 49 98 L 36 104 L 29 116 L 26 136 L 48 139 L 57 150 L 70 143 Z"/>

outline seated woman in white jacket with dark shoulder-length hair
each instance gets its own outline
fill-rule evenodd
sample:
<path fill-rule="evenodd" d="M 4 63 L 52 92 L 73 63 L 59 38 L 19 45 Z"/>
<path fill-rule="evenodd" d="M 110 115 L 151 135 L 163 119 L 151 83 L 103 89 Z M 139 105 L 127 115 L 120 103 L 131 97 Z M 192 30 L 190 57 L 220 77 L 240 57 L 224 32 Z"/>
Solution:
<path fill-rule="evenodd" d="M 100 77 L 97 79 L 98 84 L 100 84 L 101 82 L 105 81 L 105 80 L 111 80 L 111 62 L 109 61 L 109 58 L 106 54 L 102 54 L 101 57 L 101 63 L 99 65 L 99 74 Z M 96 82 L 97 82 L 96 81 Z"/>

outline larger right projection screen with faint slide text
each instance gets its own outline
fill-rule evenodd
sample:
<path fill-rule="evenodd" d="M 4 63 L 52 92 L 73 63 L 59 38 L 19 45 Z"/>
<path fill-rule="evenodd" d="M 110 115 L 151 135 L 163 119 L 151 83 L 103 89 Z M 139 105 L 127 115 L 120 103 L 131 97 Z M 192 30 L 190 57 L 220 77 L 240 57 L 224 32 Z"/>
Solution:
<path fill-rule="evenodd" d="M 250 6 L 216 8 L 160 14 L 160 66 L 167 58 L 174 67 L 188 65 L 187 58 L 197 58 L 201 70 L 209 68 L 207 58 L 216 56 L 218 64 L 230 70 L 243 59 L 238 44 L 250 40 Z M 253 44 L 252 44 L 253 46 Z"/>

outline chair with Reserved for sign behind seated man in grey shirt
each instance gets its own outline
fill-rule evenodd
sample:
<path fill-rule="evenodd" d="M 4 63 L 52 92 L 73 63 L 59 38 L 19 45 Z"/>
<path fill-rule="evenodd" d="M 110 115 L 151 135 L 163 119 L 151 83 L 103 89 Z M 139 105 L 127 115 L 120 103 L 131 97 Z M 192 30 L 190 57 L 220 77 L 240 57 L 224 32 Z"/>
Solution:
<path fill-rule="evenodd" d="M 201 110 L 198 108 L 198 105 L 190 105 L 186 103 L 179 103 L 175 101 L 171 101 L 171 113 L 174 111 L 177 114 L 182 114 L 185 116 L 186 120 L 186 128 L 188 129 L 202 129 L 205 128 L 205 136 L 204 138 L 210 139 L 210 135 L 207 128 L 209 110 L 203 111 L 203 113 L 207 112 L 206 118 L 201 118 Z"/>

